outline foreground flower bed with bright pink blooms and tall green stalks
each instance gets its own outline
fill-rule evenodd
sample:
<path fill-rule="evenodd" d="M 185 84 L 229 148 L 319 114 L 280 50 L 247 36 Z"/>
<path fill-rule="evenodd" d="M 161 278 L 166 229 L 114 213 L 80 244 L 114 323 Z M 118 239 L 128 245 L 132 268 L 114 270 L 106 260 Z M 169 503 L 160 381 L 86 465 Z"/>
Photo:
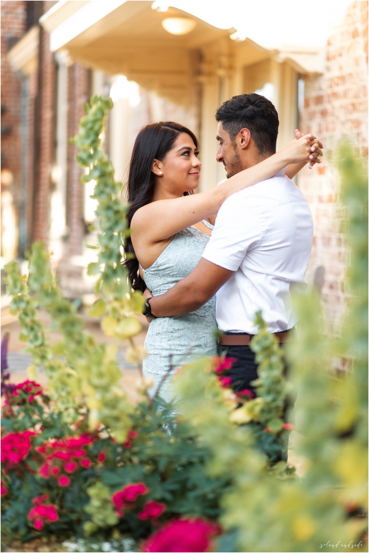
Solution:
<path fill-rule="evenodd" d="M 82 181 L 97 182 L 101 233 L 98 262 L 90 264 L 89 273 L 97 275 L 98 299 L 90 314 L 103 317 L 107 335 L 130 340 L 130 359 L 140 364 L 145 352 L 133 336 L 140 330 L 135 314 L 141 312 L 142 295 L 132 293 L 121 264 L 121 246 L 130 232 L 127 206 L 100 149 L 110 108 L 109 99 L 93 97 L 73 139 L 85 169 Z M 116 346 L 97 344 L 84 330 L 76 305 L 63 298 L 52 276 L 44 246 L 33 244 L 27 280 L 17 263 L 6 266 L 12 313 L 33 360 L 32 380 L 9 384 L 3 338 L 1 494 L 8 538 L 92 536 L 94 544 L 119 538 L 143 551 L 314 551 L 334 536 L 362 549 L 367 189 L 354 158 L 347 157 L 341 170 L 353 259 L 345 337 L 325 336 L 312 292 L 296 299 L 300 341 L 286 348 L 301 394 L 297 452 L 308 460 L 303 478 L 278 461 L 295 429 L 284 413 L 293 390 L 281 348 L 261 314 L 251 343 L 259 363 L 256 396 L 248 389 L 235 393 L 227 374 L 234 360 L 215 357 L 178 372 L 178 407 L 159 396 L 149 399 L 145 379 L 140 403 L 131 405 L 120 384 Z M 39 307 L 50 312 L 62 337 L 52 347 Z M 336 357 L 350 359 L 352 371 L 334 373 Z M 36 382 L 40 365 L 47 390 Z"/>

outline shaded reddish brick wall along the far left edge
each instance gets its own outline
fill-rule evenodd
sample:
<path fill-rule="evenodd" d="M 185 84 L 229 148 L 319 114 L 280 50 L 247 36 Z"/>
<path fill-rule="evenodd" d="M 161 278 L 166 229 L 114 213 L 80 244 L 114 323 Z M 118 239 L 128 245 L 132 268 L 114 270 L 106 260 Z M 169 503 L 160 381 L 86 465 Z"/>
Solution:
<path fill-rule="evenodd" d="M 1 168 L 13 174 L 12 193 L 19 223 L 21 201 L 21 109 L 22 82 L 9 66 L 7 51 L 25 29 L 25 2 L 1 2 Z M 17 252 L 15 252 L 17 253 Z"/>

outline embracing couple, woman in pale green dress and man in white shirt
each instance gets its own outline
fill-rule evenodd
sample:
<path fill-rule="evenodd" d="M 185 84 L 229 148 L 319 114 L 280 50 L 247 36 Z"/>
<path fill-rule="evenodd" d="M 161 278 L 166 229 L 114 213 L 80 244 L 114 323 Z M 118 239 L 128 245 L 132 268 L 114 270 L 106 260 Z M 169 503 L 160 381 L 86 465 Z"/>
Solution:
<path fill-rule="evenodd" d="M 291 179 L 320 163 L 312 135 L 276 152 L 279 119 L 264 96 L 243 94 L 217 109 L 216 159 L 227 181 L 194 194 L 199 142 L 173 122 L 138 133 L 129 170 L 131 238 L 126 259 L 132 287 L 145 292 L 151 319 L 143 375 L 156 389 L 165 373 L 221 351 L 237 359 L 233 388 L 252 389 L 258 375 L 250 338 L 261 310 L 269 332 L 290 340 L 296 318 L 291 292 L 304 286 L 313 239 L 307 200 Z M 132 257 L 132 256 L 129 256 Z M 196 383 L 194 383 L 196 385 Z M 160 395 L 172 399 L 170 378 Z"/>

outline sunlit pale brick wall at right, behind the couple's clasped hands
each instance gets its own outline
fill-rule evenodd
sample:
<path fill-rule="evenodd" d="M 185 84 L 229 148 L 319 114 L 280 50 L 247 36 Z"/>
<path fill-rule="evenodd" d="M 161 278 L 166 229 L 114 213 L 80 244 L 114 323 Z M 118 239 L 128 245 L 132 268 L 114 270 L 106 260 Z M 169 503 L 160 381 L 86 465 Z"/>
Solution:
<path fill-rule="evenodd" d="M 316 134 L 324 145 L 324 163 L 301 171 L 298 184 L 314 218 L 314 242 L 307 278 L 325 267 L 322 297 L 333 326 L 345 305 L 347 252 L 340 232 L 343 210 L 334 160 L 344 139 L 361 155 L 368 152 L 368 2 L 352 2 L 329 37 L 322 76 L 305 78 L 303 133 Z"/>

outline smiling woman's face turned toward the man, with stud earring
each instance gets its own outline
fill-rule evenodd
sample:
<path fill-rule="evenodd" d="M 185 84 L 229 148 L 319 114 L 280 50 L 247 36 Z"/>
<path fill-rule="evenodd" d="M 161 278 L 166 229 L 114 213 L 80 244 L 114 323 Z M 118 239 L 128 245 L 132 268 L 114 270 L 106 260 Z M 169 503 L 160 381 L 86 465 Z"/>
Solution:
<path fill-rule="evenodd" d="M 198 155 L 199 150 L 190 135 L 180 133 L 164 160 L 154 160 L 152 171 L 157 175 L 157 186 L 176 197 L 196 189 L 201 168 Z"/>

